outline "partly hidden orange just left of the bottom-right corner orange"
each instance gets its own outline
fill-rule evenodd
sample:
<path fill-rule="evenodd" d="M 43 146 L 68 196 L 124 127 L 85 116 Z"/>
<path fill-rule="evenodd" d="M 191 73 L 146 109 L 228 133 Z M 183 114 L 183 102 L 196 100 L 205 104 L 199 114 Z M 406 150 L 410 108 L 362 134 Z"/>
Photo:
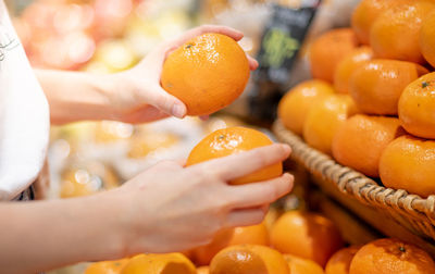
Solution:
<path fill-rule="evenodd" d="M 338 250 L 326 263 L 325 274 L 349 274 L 350 262 L 361 246 L 351 246 Z"/>

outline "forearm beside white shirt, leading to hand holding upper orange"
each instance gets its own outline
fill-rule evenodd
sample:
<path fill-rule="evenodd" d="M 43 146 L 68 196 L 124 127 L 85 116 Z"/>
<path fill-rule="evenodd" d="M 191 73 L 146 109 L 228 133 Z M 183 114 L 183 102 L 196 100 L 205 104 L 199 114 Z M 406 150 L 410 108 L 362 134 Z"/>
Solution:
<path fill-rule="evenodd" d="M 50 104 L 53 124 L 83 120 L 116 120 L 113 95 L 117 76 L 36 70 Z"/>

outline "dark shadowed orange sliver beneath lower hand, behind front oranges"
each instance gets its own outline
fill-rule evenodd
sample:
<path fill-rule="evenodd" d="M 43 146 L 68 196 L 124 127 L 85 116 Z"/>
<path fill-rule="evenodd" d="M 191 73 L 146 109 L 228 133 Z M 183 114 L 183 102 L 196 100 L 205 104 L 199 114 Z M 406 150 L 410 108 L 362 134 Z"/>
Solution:
<path fill-rule="evenodd" d="M 214 235 L 210 244 L 194 248 L 191 257 L 195 263 L 197 265 L 208 265 L 219 251 L 229 245 L 233 233 L 233 228 L 221 229 Z"/>

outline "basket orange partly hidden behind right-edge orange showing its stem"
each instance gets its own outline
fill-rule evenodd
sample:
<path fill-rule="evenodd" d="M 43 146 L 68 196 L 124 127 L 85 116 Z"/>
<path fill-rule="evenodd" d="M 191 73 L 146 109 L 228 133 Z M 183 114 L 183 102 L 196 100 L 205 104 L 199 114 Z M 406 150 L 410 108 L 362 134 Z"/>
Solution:
<path fill-rule="evenodd" d="M 411 62 L 372 60 L 353 72 L 350 96 L 368 114 L 396 115 L 403 89 L 426 73 L 426 68 Z"/>

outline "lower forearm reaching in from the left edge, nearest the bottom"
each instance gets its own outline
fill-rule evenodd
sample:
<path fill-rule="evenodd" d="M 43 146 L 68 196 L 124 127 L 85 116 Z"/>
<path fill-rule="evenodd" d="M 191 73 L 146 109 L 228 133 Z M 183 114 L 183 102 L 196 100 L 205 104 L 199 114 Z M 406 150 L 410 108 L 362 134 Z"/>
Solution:
<path fill-rule="evenodd" d="M 1 273 L 35 273 L 123 256 L 123 202 L 114 195 L 0 203 Z"/>

